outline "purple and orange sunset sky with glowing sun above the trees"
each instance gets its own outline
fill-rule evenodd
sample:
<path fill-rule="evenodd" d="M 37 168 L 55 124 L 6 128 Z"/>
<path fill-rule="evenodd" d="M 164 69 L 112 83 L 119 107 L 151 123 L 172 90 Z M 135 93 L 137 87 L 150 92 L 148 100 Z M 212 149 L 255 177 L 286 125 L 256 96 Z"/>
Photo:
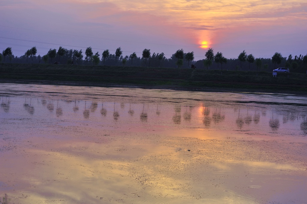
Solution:
<path fill-rule="evenodd" d="M 204 59 L 208 48 L 237 58 L 307 54 L 306 0 L 1 0 L 0 51 L 87 47 L 123 56 L 178 49 Z M 85 54 L 84 54 L 85 56 Z"/>

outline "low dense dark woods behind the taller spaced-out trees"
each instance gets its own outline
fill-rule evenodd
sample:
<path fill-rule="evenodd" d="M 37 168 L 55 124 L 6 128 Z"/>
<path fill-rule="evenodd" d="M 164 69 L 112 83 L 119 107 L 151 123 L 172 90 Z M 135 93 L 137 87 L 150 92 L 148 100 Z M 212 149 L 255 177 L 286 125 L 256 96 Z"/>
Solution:
<path fill-rule="evenodd" d="M 294 57 L 292 55 L 287 56 L 287 57 L 282 56 L 279 64 L 273 63 L 272 58 L 258 58 L 260 59 L 260 64 L 258 61 L 258 67 L 257 67 L 256 61 L 254 61 L 253 63 L 249 63 L 247 60 L 241 61 L 239 60 L 239 56 L 238 56 L 238 58 L 226 59 L 227 60 L 226 63 L 223 63 L 223 64 L 216 63 L 214 60 L 212 60 L 212 65 L 207 67 L 204 64 L 205 57 L 203 60 L 188 61 L 185 59 L 185 56 L 188 53 L 184 53 L 184 58 L 180 59 L 180 63 L 179 63 L 179 59 L 176 58 L 176 55 L 175 55 L 176 53 L 174 53 L 170 58 L 166 58 L 163 52 L 162 53 L 150 53 L 149 57 L 148 56 L 138 57 L 135 55 L 135 58 L 131 58 L 131 56 L 127 56 L 127 55 L 123 56 L 122 53 L 120 53 L 120 56 L 118 57 L 116 56 L 115 53 L 114 54 L 109 53 L 107 57 L 103 58 L 103 52 L 101 53 L 97 52 L 95 54 L 92 53 L 91 56 L 86 56 L 86 50 L 82 50 L 82 54 L 77 60 L 76 52 L 80 52 L 80 50 L 73 50 L 73 49 L 68 50 L 62 47 L 60 47 L 59 49 L 62 50 L 62 52 L 59 52 L 59 50 L 55 48 L 49 50 L 49 52 L 52 50 L 56 51 L 55 56 L 52 58 L 48 56 L 49 52 L 46 53 L 45 56 L 41 56 L 41 55 L 29 56 L 27 52 L 25 53 L 25 55 L 22 55 L 19 57 L 14 56 L 13 53 L 8 56 L 3 56 L 3 53 L 5 51 L 3 50 L 2 54 L 0 53 L 0 59 L 1 59 L 1 62 L 4 62 L 4 63 L 19 63 L 19 64 L 54 64 L 55 62 L 59 62 L 59 64 L 72 64 L 73 62 L 73 64 L 75 65 L 78 64 L 78 65 L 124 66 L 124 67 L 131 67 L 131 66 L 133 67 L 165 67 L 165 68 L 177 68 L 177 63 L 178 63 L 179 68 L 191 68 L 191 65 L 193 64 L 194 66 L 196 66 L 197 69 L 221 70 L 222 68 L 223 71 L 231 70 L 231 71 L 269 71 L 271 72 L 273 71 L 273 69 L 277 69 L 278 67 L 287 67 L 290 69 L 290 72 L 306 73 L 306 69 L 307 69 L 307 54 L 305 56 L 300 55 L 300 56 L 294 56 Z M 96 60 L 94 56 L 96 56 Z"/>

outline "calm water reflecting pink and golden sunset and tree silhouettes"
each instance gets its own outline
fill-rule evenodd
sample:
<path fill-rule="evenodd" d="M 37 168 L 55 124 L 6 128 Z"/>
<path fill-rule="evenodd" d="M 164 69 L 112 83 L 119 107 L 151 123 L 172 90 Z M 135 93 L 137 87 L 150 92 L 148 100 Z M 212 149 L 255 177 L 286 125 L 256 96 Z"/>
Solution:
<path fill-rule="evenodd" d="M 307 203 L 307 98 L 0 84 L 11 203 Z"/>

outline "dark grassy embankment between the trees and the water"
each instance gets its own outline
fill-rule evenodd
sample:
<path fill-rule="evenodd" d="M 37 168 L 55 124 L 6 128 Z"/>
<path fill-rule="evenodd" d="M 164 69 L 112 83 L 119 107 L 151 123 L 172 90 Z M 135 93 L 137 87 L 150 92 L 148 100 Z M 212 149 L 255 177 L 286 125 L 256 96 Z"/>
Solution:
<path fill-rule="evenodd" d="M 139 86 L 173 88 L 246 88 L 307 91 L 305 74 L 223 71 L 157 67 L 110 67 L 53 64 L 0 64 L 1 81 L 74 83 L 92 86 Z"/>

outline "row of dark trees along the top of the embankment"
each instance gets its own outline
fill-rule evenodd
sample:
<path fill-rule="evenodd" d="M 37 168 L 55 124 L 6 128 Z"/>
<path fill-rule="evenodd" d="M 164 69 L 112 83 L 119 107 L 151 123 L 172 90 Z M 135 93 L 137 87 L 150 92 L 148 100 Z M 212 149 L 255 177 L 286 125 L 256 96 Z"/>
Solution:
<path fill-rule="evenodd" d="M 245 50 L 241 52 L 238 58 L 227 59 L 221 52 L 214 54 L 214 50 L 209 48 L 204 55 L 203 60 L 194 60 L 194 52 L 185 53 L 183 49 L 177 50 L 170 58 L 166 58 L 163 52 L 151 54 L 150 49 L 144 49 L 142 57 L 138 57 L 136 52 L 130 56 L 122 55 L 121 47 L 117 48 L 114 54 L 104 50 L 95 54 L 91 47 L 86 48 L 83 53 L 81 50 L 66 49 L 60 46 L 58 50 L 50 49 L 44 56 L 37 55 L 37 48 L 34 46 L 27 50 L 24 55 L 17 57 L 13 55 L 12 48 L 8 47 L 0 54 L 0 61 L 10 63 L 45 63 L 45 64 L 79 64 L 79 65 L 107 65 L 107 66 L 144 66 L 144 67 L 177 67 L 177 68 L 195 68 L 198 69 L 219 69 L 221 73 L 224 70 L 236 71 L 272 71 L 277 66 L 287 67 L 291 72 L 305 73 L 307 69 L 307 54 L 305 56 L 292 55 L 283 57 L 281 53 L 276 52 L 272 58 L 255 58 L 252 54 L 247 54 Z"/>

